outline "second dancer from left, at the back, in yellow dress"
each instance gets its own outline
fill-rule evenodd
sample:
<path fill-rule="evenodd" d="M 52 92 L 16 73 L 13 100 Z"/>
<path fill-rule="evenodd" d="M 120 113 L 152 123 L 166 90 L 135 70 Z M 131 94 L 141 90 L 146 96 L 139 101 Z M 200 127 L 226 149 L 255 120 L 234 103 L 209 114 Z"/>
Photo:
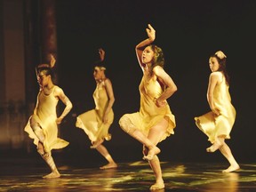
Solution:
<path fill-rule="evenodd" d="M 96 81 L 96 89 L 93 92 L 95 108 L 76 117 L 76 127 L 81 128 L 92 141 L 91 148 L 95 148 L 106 158 L 108 164 L 100 169 L 116 168 L 117 164 L 108 149 L 103 146 L 104 140 L 111 140 L 108 133 L 110 125 L 114 121 L 112 106 L 115 102 L 114 92 L 110 79 L 105 75 L 106 68 L 103 66 L 105 51 L 99 49 L 100 63 L 96 64 L 93 72 Z"/>

